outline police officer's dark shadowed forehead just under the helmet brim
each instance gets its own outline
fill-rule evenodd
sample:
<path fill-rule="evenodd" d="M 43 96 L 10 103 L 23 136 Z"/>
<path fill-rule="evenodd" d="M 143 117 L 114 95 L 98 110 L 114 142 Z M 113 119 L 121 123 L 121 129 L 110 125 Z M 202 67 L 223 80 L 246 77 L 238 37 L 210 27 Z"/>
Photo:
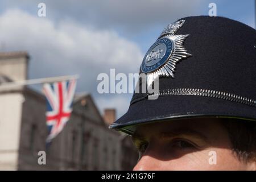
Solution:
<path fill-rule="evenodd" d="M 176 121 L 162 121 L 139 125 L 134 136 L 147 137 L 160 133 L 177 134 L 203 134 L 206 137 L 216 137 L 220 133 L 226 133 L 218 118 L 180 119 Z"/>

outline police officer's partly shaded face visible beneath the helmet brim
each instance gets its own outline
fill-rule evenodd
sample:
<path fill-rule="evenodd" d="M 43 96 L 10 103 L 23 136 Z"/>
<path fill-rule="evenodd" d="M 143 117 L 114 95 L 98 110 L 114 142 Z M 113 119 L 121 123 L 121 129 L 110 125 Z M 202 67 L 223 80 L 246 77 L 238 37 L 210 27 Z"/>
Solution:
<path fill-rule="evenodd" d="M 141 158 L 135 170 L 255 169 L 232 151 L 217 119 L 186 119 L 138 126 L 133 141 Z"/>

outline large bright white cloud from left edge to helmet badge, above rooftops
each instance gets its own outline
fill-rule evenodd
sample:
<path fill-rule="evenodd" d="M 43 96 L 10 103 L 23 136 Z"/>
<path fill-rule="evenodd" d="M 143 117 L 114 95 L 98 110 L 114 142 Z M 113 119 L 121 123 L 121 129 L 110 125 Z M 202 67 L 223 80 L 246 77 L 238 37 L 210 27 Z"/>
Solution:
<path fill-rule="evenodd" d="M 143 58 L 137 44 L 114 31 L 96 30 L 67 20 L 53 23 L 18 9 L 2 14 L 0 27 L 0 43 L 5 43 L 6 50 L 25 50 L 31 55 L 30 78 L 78 73 L 78 89 L 94 96 L 98 73 L 109 73 L 110 68 L 137 72 Z M 108 106 L 110 102 L 104 103 Z"/>

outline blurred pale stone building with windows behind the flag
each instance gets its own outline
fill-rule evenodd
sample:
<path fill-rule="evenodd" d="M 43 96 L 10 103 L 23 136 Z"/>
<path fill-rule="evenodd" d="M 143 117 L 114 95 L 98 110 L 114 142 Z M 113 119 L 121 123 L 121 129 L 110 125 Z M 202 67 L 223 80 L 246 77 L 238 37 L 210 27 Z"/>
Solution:
<path fill-rule="evenodd" d="M 108 109 L 102 117 L 90 94 L 76 94 L 67 125 L 46 146 L 43 94 L 25 86 L 1 88 L 3 82 L 26 80 L 27 64 L 26 52 L 0 53 L 0 169 L 133 168 L 138 154 L 130 137 L 108 129 L 115 111 Z M 39 151 L 46 151 L 46 165 L 38 164 Z"/>

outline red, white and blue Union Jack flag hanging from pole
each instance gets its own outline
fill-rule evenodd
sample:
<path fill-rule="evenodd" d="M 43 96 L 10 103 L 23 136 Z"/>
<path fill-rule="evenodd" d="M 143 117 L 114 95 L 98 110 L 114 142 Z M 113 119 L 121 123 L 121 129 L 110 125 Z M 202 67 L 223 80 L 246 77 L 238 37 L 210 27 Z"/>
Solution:
<path fill-rule="evenodd" d="M 76 80 L 44 84 L 43 90 L 47 100 L 46 125 L 49 130 L 46 142 L 51 142 L 68 122 L 75 89 Z"/>

